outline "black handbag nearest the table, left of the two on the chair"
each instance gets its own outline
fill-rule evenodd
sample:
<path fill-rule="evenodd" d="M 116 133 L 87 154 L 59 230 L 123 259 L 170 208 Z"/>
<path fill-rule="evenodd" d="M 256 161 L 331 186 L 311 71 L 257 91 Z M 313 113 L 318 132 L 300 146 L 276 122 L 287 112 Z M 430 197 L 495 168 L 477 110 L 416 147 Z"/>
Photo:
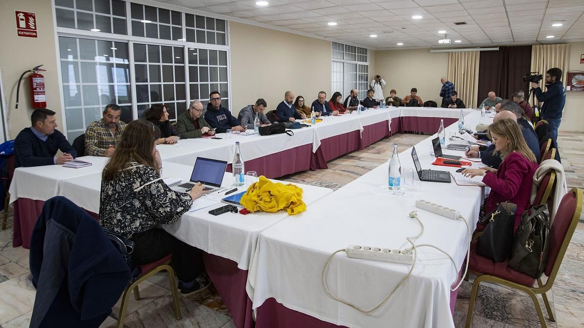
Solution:
<path fill-rule="evenodd" d="M 516 210 L 517 205 L 506 201 L 486 215 L 488 219 L 485 230 L 478 238 L 477 254 L 495 262 L 503 262 L 509 258 L 513 246 Z"/>

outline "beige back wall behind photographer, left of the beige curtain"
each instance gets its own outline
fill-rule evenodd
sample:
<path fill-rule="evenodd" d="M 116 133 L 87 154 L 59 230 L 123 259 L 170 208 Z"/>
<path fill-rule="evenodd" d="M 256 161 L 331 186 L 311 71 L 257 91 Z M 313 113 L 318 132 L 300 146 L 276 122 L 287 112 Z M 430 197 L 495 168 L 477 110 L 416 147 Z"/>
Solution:
<path fill-rule="evenodd" d="M 424 102 L 442 103 L 440 78 L 448 72 L 448 53 L 432 54 L 430 49 L 378 50 L 374 57 L 376 71 L 370 70 L 369 76 L 381 75 L 387 82 L 387 96 L 389 90 L 395 89 L 403 98 L 415 87 Z M 384 90 L 384 96 L 385 93 Z"/>

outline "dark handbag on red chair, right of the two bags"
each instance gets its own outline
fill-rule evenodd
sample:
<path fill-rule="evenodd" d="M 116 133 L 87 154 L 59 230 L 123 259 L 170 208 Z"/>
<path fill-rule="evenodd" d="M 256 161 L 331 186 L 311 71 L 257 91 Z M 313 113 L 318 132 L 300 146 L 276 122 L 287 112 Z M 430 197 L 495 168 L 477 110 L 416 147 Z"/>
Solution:
<path fill-rule="evenodd" d="M 511 259 L 507 266 L 539 279 L 547 264 L 550 249 L 550 220 L 544 211 L 547 204 L 525 211 L 515 232 Z"/>

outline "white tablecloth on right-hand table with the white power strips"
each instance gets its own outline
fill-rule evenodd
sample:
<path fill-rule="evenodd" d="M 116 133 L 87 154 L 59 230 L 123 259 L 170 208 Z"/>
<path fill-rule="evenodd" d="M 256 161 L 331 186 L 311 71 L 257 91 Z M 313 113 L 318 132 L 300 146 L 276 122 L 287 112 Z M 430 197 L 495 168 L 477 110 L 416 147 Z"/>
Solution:
<path fill-rule="evenodd" d="M 478 113 L 467 116 L 478 122 Z M 455 130 L 453 126 L 447 132 Z M 430 169 L 429 137 L 416 145 L 423 169 Z M 462 152 L 448 151 L 448 153 Z M 402 169 L 414 168 L 411 149 L 399 155 Z M 433 166 L 454 171 L 457 168 Z M 454 182 L 420 182 L 405 197 L 386 190 L 388 162 L 347 184 L 312 205 L 311 211 L 281 221 L 260 234 L 258 252 L 249 271 L 248 294 L 257 309 L 268 298 L 287 308 L 334 324 L 349 327 L 453 327 L 450 286 L 456 280 L 468 246 L 463 221 L 453 221 L 416 209 L 425 199 L 456 208 L 474 228 L 482 202 L 481 187 L 461 187 Z M 415 171 L 414 171 L 415 172 Z M 321 282 L 327 257 L 349 244 L 404 249 L 406 236 L 415 236 L 420 226 L 408 218 L 417 210 L 425 232 L 416 243 L 439 246 L 453 256 L 457 268 L 444 254 L 420 247 L 413 274 L 394 296 L 371 315 L 364 315 L 329 297 Z M 364 309 L 373 308 L 405 276 L 409 266 L 336 254 L 328 268 L 328 286 Z"/>

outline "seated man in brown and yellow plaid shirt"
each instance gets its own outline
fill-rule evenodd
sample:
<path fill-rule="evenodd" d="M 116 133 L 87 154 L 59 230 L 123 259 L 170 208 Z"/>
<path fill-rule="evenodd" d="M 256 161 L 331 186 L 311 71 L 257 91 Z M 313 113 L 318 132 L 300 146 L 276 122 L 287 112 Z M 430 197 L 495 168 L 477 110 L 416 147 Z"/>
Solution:
<path fill-rule="evenodd" d="M 103 118 L 95 121 L 85 130 L 85 155 L 110 157 L 116 151 L 121 132 L 126 123 L 120 121 L 121 109 L 117 104 L 109 104 L 103 111 Z"/>

